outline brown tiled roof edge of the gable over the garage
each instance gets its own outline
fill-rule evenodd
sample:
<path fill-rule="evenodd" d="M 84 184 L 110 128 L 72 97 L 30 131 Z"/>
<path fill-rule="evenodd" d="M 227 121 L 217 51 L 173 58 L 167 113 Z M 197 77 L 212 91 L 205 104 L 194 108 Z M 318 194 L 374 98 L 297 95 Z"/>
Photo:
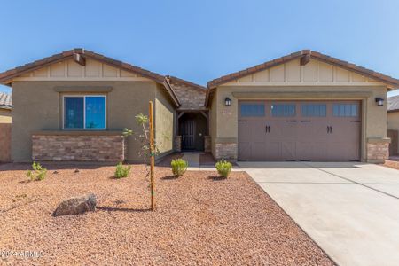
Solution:
<path fill-rule="evenodd" d="M 291 61 L 293 59 L 301 59 L 301 60 L 303 60 L 304 64 L 306 64 L 306 61 L 309 60 L 309 59 L 312 59 L 312 58 L 325 61 L 325 63 L 328 63 L 328 64 L 332 64 L 332 65 L 335 65 L 335 66 L 340 66 L 340 67 L 342 67 L 344 69 L 356 72 L 357 74 L 362 74 L 362 75 L 364 75 L 366 77 L 370 77 L 370 78 L 372 78 L 372 79 L 374 79 L 376 81 L 386 83 L 387 85 L 391 86 L 392 88 L 395 88 L 395 89 L 399 88 L 399 80 L 397 80 L 397 79 L 395 79 L 393 77 L 390 77 L 390 76 L 385 75 L 385 74 L 380 74 L 378 72 L 374 72 L 374 71 L 372 71 L 370 69 L 367 69 L 367 68 L 364 68 L 362 66 L 356 66 L 355 64 L 349 63 L 347 61 L 343 61 L 343 60 L 340 60 L 340 59 L 332 58 L 330 56 L 327 56 L 327 55 L 322 54 L 322 53 L 317 52 L 317 51 L 310 51 L 310 50 L 297 51 L 297 52 L 294 52 L 294 53 L 292 53 L 290 55 L 287 55 L 285 57 L 282 57 L 282 58 L 279 58 L 279 59 L 273 59 L 271 61 L 265 62 L 265 63 L 257 65 L 257 66 L 246 68 L 246 69 L 241 70 L 241 71 L 236 72 L 236 73 L 223 75 L 220 78 L 217 78 L 217 79 L 215 79 L 213 81 L 207 82 L 207 88 L 210 89 L 210 90 L 214 89 L 215 87 L 217 87 L 219 85 L 222 85 L 223 83 L 231 82 L 233 80 L 237 80 L 237 79 L 239 79 L 241 77 L 244 77 L 246 75 L 254 74 L 254 73 L 260 72 L 262 70 L 266 70 L 266 69 L 268 69 L 270 67 L 284 64 L 284 63 L 286 63 L 288 61 Z"/>

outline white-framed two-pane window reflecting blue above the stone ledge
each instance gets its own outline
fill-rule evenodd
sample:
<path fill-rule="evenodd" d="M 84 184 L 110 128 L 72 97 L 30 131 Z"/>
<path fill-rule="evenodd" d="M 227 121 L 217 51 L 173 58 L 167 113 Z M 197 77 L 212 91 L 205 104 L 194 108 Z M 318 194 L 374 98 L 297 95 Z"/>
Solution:
<path fill-rule="evenodd" d="M 65 96 L 64 129 L 106 129 L 106 96 Z"/>

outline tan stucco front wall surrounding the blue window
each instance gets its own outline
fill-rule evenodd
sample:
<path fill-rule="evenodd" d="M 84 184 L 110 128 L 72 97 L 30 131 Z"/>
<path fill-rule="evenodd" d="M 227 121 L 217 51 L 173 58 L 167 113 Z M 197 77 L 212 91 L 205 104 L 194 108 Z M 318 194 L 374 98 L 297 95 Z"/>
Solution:
<path fill-rule="evenodd" d="M 112 87 L 105 93 L 107 129 L 135 132 L 141 129 L 135 116 L 148 114 L 148 101 L 155 98 L 156 90 L 155 82 L 13 82 L 12 160 L 31 160 L 32 132 L 62 129 L 62 93 L 54 90 L 59 86 Z M 137 141 L 129 137 L 127 142 L 127 160 L 139 160 Z"/>

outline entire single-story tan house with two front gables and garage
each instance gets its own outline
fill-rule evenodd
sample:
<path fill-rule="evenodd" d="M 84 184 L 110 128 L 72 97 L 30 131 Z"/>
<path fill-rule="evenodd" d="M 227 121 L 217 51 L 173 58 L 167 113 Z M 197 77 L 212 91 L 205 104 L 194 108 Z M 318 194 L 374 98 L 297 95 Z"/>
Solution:
<path fill-rule="evenodd" d="M 12 160 L 140 160 L 124 128 L 154 102 L 159 158 L 180 150 L 228 160 L 387 158 L 387 90 L 399 80 L 299 51 L 207 83 L 74 49 L 0 74 L 12 87 Z"/>

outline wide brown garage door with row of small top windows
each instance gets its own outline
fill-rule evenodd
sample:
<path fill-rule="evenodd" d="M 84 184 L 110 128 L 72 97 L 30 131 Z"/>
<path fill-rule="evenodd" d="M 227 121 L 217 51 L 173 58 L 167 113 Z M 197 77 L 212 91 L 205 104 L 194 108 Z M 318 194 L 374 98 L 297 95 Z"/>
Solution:
<path fill-rule="evenodd" d="M 240 101 L 239 160 L 360 160 L 358 101 Z"/>

